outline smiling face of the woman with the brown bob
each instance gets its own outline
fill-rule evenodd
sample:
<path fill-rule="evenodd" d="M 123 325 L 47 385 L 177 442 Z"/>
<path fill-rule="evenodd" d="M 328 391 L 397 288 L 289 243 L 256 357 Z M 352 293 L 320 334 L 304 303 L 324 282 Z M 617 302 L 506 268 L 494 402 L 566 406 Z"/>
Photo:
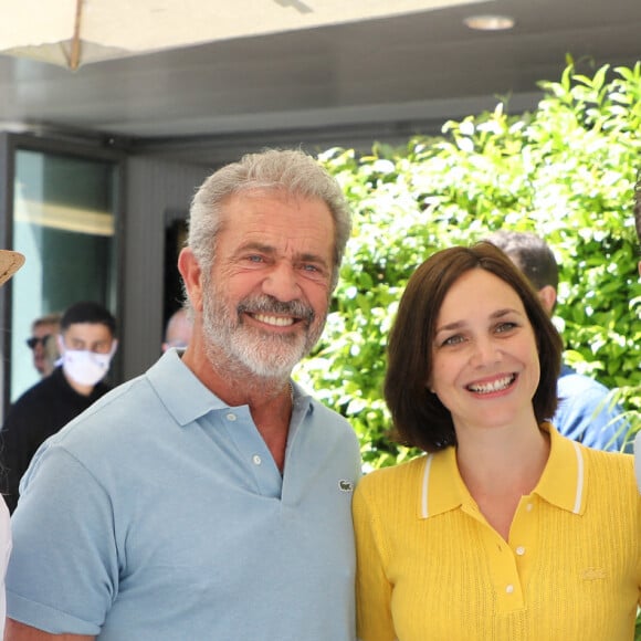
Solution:
<path fill-rule="evenodd" d="M 505 424 L 536 431 L 532 399 L 539 382 L 532 324 L 518 294 L 482 269 L 450 288 L 437 318 L 428 385 L 463 433 Z"/>

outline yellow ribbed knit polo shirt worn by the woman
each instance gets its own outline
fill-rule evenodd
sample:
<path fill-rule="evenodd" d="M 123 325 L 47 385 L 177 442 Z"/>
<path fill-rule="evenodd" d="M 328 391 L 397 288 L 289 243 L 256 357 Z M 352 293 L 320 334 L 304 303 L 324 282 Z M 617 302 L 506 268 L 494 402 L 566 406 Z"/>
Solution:
<path fill-rule="evenodd" d="M 360 481 L 359 639 L 632 641 L 641 585 L 632 456 L 579 445 L 581 472 L 577 445 L 551 435 L 508 543 L 477 511 L 452 449 L 432 456 L 428 476 L 421 458 Z"/>

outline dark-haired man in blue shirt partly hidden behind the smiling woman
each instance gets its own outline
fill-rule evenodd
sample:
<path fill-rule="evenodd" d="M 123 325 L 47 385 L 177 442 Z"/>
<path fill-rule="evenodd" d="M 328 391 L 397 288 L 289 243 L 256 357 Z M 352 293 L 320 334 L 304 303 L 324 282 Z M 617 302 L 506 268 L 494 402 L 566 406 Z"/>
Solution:
<path fill-rule="evenodd" d="M 512 259 L 551 316 L 557 301 L 558 264 L 545 241 L 533 233 L 515 231 L 498 231 L 486 240 Z M 608 388 L 561 364 L 557 389 L 559 404 L 551 422 L 561 434 L 597 450 L 621 450 L 628 425 L 620 417 L 621 409 L 612 407 Z"/>

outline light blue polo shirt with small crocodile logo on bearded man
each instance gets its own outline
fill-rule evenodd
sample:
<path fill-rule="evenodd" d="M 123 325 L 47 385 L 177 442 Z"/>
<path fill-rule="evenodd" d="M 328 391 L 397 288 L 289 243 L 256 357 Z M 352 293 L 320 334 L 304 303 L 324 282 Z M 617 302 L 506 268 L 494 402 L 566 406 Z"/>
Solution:
<path fill-rule="evenodd" d="M 249 408 L 169 350 L 42 445 L 9 617 L 101 641 L 353 641 L 347 421 L 295 389 L 284 475 Z"/>

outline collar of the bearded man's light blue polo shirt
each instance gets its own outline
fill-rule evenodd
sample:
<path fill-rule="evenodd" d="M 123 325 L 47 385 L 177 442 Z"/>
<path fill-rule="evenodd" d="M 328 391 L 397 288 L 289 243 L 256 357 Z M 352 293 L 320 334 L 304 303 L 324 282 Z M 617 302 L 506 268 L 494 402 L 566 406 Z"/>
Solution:
<path fill-rule="evenodd" d="M 229 409 L 229 404 L 218 398 L 187 367 L 181 351 L 168 349 L 158 361 L 147 370 L 147 378 L 158 393 L 158 398 L 178 424 L 185 427 L 210 411 Z M 295 407 L 304 413 L 313 411 L 312 397 L 292 381 Z M 189 402 L 185 402 L 188 398 Z"/>

